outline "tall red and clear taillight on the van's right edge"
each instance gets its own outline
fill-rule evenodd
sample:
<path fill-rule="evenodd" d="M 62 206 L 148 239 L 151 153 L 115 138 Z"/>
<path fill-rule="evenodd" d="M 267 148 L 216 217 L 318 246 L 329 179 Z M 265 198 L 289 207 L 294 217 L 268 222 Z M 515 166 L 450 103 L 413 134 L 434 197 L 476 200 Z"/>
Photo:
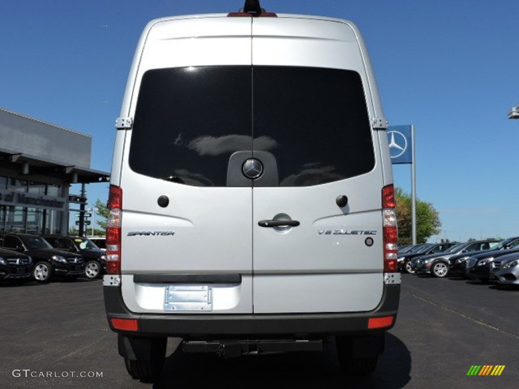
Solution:
<path fill-rule="evenodd" d="M 387 273 L 398 270 L 398 227 L 395 205 L 393 185 L 385 186 L 382 188 L 382 216 L 384 218 L 384 272 Z"/>

